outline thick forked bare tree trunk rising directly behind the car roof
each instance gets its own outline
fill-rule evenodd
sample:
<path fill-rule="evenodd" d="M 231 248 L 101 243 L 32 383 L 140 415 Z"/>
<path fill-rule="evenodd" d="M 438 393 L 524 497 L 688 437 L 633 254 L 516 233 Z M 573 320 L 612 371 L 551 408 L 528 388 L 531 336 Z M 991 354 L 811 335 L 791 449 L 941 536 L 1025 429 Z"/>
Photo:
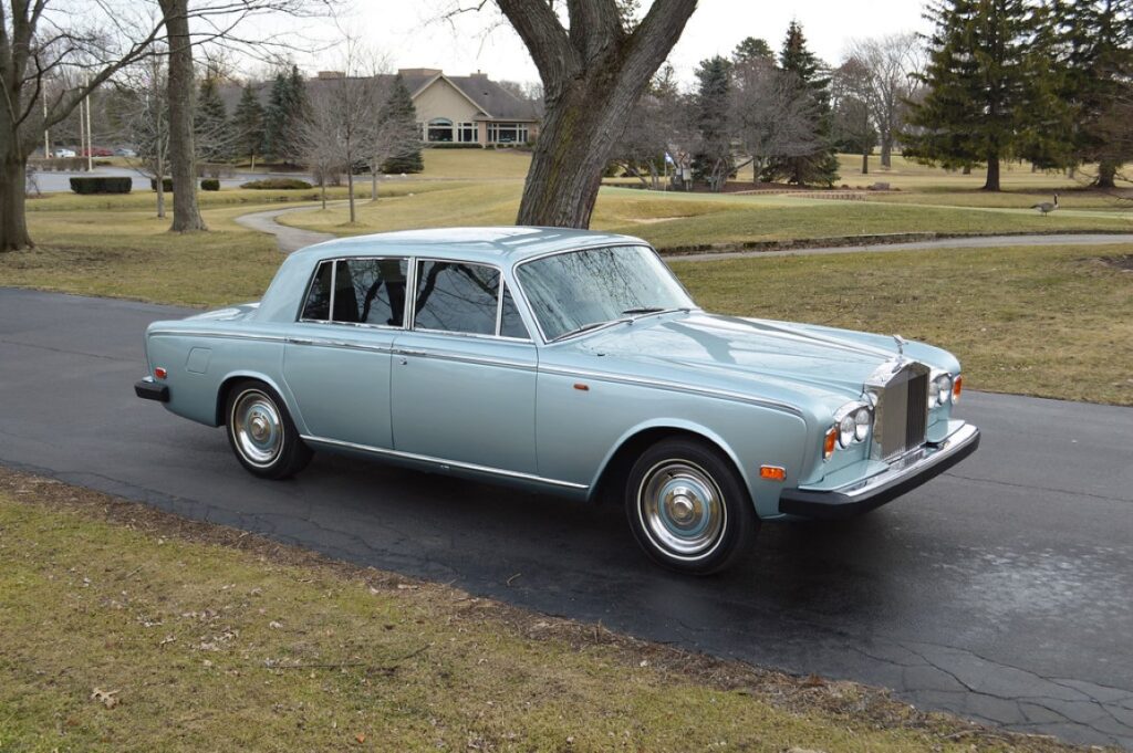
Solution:
<path fill-rule="evenodd" d="M 546 101 L 517 221 L 586 228 L 630 109 L 697 0 L 654 0 L 640 22 L 637 3 L 617 0 L 570 0 L 565 18 L 547 0 L 495 3 L 535 60 Z"/>

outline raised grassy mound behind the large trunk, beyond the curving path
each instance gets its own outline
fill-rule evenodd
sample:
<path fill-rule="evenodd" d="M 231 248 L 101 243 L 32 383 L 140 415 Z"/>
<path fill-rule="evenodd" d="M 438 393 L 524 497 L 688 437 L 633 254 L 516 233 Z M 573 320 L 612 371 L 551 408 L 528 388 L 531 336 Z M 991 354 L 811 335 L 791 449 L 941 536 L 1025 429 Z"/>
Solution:
<path fill-rule="evenodd" d="M 510 224 L 521 190 L 519 183 L 462 183 L 367 204 L 353 225 L 347 224 L 342 207 L 291 214 L 281 222 L 338 234 Z M 1133 231 L 1133 213 L 1066 208 L 1042 217 L 1011 207 L 905 206 L 790 195 L 710 196 L 606 187 L 599 194 L 591 226 L 638 236 L 664 250 L 891 233 L 1128 232 Z"/>

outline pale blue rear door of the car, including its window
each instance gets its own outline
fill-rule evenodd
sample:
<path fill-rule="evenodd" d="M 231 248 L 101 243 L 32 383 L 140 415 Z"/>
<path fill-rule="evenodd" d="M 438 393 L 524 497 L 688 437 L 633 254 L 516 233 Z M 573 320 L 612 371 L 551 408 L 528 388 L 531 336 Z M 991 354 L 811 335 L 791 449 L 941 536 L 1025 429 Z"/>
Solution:
<path fill-rule="evenodd" d="M 390 361 L 406 319 L 407 273 L 399 257 L 331 259 L 316 272 L 283 353 L 309 436 L 392 447 Z"/>

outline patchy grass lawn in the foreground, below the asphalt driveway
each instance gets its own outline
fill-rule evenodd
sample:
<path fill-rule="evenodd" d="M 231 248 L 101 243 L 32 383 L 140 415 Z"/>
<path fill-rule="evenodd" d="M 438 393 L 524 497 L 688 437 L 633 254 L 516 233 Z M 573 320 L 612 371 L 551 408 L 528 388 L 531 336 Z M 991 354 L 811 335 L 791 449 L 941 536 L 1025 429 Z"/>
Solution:
<path fill-rule="evenodd" d="M 1063 751 L 0 469 L 2 751 Z"/>

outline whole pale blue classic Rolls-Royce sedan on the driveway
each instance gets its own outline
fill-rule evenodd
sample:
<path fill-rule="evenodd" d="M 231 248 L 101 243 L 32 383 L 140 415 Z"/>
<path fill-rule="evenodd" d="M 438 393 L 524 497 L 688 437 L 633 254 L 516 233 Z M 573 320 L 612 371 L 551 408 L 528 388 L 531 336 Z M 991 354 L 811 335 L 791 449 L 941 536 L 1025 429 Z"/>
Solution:
<path fill-rule="evenodd" d="M 764 521 L 842 517 L 979 444 L 952 354 L 701 310 L 627 236 L 383 233 L 287 257 L 257 303 L 145 335 L 139 397 L 252 473 L 314 451 L 620 499 L 641 548 L 722 570 Z M 533 513 L 534 514 L 534 513 Z"/>

